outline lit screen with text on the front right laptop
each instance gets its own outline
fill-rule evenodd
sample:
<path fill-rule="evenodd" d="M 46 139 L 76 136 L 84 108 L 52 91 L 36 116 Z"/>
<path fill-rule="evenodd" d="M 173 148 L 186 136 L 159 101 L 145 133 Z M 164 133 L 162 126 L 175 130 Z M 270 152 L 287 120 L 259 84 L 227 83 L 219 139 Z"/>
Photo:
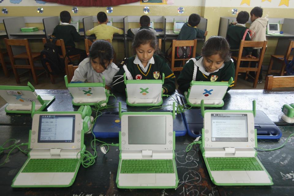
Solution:
<path fill-rule="evenodd" d="M 211 114 L 211 141 L 248 141 L 247 114 Z"/>

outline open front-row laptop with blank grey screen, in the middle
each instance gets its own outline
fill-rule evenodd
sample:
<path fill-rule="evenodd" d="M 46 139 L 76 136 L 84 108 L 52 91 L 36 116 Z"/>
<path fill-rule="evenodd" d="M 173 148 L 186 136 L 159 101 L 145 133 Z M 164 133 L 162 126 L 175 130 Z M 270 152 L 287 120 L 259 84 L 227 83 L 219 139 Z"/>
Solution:
<path fill-rule="evenodd" d="M 120 104 L 121 105 L 121 104 Z M 123 112 L 119 132 L 119 188 L 176 188 L 175 132 L 171 112 Z M 150 126 L 152 125 L 152 126 Z"/>

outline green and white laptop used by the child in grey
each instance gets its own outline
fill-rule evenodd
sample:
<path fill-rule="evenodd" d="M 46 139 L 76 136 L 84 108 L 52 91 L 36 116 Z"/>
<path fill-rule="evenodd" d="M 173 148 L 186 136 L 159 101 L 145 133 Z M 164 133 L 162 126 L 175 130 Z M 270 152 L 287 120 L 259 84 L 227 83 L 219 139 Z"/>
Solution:
<path fill-rule="evenodd" d="M 110 94 L 105 89 L 104 76 L 102 78 L 103 83 L 68 83 L 65 76 L 65 85 L 73 97 L 73 105 L 95 105 L 99 102 L 106 105 Z"/>

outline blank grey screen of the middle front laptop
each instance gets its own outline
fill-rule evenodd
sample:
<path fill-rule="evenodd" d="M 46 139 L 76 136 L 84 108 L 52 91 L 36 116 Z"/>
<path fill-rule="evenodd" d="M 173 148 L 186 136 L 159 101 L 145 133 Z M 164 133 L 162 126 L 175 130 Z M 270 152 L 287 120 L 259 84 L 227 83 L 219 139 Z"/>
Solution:
<path fill-rule="evenodd" d="M 129 144 L 166 144 L 165 116 L 129 116 Z"/>

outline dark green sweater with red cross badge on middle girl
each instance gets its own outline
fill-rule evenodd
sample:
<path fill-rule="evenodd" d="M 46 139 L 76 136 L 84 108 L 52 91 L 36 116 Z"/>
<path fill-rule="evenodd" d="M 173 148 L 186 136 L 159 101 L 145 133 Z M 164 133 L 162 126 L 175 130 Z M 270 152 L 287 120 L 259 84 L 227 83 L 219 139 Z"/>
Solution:
<path fill-rule="evenodd" d="M 126 62 L 126 66 L 134 80 L 161 80 L 162 73 L 164 73 L 164 84 L 162 87 L 165 89 L 165 94 L 175 91 L 175 75 L 163 58 L 154 54 L 154 64 L 149 64 L 148 70 L 145 73 L 138 64 L 134 64 L 135 57 L 130 57 Z M 156 77 L 158 72 L 159 77 Z M 125 70 L 120 68 L 119 72 L 113 77 L 112 85 L 114 90 L 125 92 L 126 85 L 123 82 L 124 73 Z"/>

